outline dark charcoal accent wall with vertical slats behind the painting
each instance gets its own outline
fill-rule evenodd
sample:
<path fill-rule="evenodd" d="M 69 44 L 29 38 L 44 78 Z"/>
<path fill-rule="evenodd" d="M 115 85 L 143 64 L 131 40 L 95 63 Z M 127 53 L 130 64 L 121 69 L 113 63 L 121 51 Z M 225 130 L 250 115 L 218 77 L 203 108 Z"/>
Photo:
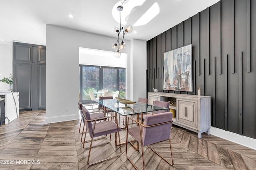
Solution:
<path fill-rule="evenodd" d="M 147 41 L 147 92 L 211 96 L 211 125 L 256 139 L 256 0 L 221 0 Z M 168 19 L 166 19 L 168 21 Z M 193 92 L 163 90 L 164 53 L 192 44 Z"/>

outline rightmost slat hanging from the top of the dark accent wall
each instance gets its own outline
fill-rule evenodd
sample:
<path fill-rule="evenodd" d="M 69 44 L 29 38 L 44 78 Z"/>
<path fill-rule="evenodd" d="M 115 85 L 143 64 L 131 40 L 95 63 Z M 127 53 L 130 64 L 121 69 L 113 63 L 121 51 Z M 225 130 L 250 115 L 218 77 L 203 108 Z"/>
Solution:
<path fill-rule="evenodd" d="M 250 55 L 250 46 L 251 46 L 251 39 L 250 39 L 250 15 L 251 15 L 251 12 L 250 12 L 250 4 L 251 4 L 251 0 L 247 0 L 247 23 L 246 23 L 246 58 L 247 58 L 247 72 L 251 72 L 251 55 Z"/>

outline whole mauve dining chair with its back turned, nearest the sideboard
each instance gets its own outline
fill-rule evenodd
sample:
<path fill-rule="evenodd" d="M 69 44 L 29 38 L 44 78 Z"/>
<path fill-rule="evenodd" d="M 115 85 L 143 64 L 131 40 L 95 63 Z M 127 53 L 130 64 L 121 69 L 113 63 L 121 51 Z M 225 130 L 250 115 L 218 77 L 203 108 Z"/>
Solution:
<path fill-rule="evenodd" d="M 128 123 L 129 123 L 129 119 L 132 119 L 132 118 L 128 117 Z M 172 145 L 171 145 L 171 139 L 170 139 L 170 133 L 171 133 L 171 127 L 172 127 L 172 112 L 148 115 L 145 117 L 144 125 L 136 121 L 135 119 L 133 121 L 135 121 L 139 125 L 135 127 L 130 127 L 130 128 L 127 127 L 125 154 L 128 160 L 134 166 L 134 168 L 138 170 L 138 168 L 132 162 L 132 159 L 127 154 L 128 134 L 130 134 L 136 141 L 141 143 L 144 170 L 145 170 L 145 161 L 144 161 L 143 147 L 148 145 L 149 145 L 149 148 L 152 151 L 154 151 L 158 156 L 164 159 L 168 164 L 173 165 Z M 164 158 L 162 155 L 160 155 L 158 152 L 156 152 L 156 150 L 152 149 L 151 147 L 151 145 L 154 143 L 159 143 L 166 140 L 169 140 L 170 155 L 171 155 L 172 163 L 169 162 L 166 158 Z"/>

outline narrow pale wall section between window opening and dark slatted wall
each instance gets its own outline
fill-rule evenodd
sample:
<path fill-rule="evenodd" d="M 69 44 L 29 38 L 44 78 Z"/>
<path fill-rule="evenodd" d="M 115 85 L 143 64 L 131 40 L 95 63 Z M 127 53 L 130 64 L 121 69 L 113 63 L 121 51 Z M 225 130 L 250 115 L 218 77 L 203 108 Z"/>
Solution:
<path fill-rule="evenodd" d="M 132 78 L 130 82 L 132 99 L 138 101 L 139 97 L 148 98 L 147 95 L 147 42 L 137 39 L 131 41 Z"/>

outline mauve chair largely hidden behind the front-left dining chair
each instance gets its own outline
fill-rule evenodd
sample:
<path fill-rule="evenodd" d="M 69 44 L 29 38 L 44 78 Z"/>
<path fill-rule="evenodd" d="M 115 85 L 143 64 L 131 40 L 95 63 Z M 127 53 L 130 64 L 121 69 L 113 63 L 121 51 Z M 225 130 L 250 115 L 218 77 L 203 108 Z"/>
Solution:
<path fill-rule="evenodd" d="M 79 133 L 81 133 L 82 134 L 82 136 L 81 136 L 81 142 L 83 142 L 82 141 L 82 138 L 83 138 L 83 134 L 84 134 L 84 126 L 83 126 L 83 129 L 82 129 L 82 132 L 80 132 L 80 129 L 81 129 L 81 124 L 82 124 L 82 121 L 83 121 L 83 123 L 84 123 L 84 117 L 82 116 L 82 114 L 83 114 L 83 112 L 82 112 L 82 107 L 83 107 L 83 104 L 79 101 L 78 102 L 78 109 L 79 109 L 79 111 L 80 111 L 80 115 L 81 115 L 81 121 L 80 121 L 80 127 L 79 127 Z M 91 113 L 91 118 L 92 119 L 96 119 L 96 118 L 100 118 L 100 117 L 104 117 L 105 115 L 104 115 L 104 110 L 103 110 L 103 108 L 97 108 L 98 109 L 98 111 L 95 111 L 96 109 L 89 109 L 89 110 L 94 110 L 94 111 L 92 111 L 92 112 L 90 112 Z M 100 110 L 101 109 L 101 110 Z M 103 120 L 103 119 L 101 119 L 101 120 Z M 84 124 L 85 125 L 85 124 Z M 85 129 L 85 135 L 86 135 L 86 132 L 87 132 L 87 129 Z"/>

